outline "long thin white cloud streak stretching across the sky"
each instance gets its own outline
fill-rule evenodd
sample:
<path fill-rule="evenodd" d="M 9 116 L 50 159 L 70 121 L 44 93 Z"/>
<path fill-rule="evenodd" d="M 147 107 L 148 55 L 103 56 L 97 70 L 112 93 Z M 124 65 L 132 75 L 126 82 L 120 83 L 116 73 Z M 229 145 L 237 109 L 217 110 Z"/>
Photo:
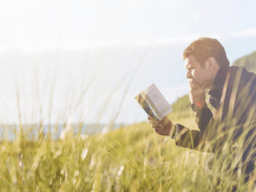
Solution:
<path fill-rule="evenodd" d="M 156 38 L 152 47 L 170 46 L 178 44 L 189 44 L 200 37 L 217 38 L 219 41 L 230 41 L 236 38 L 256 37 L 256 28 L 248 28 L 236 32 L 227 33 L 202 33 L 195 35 L 178 36 L 173 38 Z M 27 47 L 16 47 L 21 53 L 34 53 L 35 51 L 56 51 L 56 50 L 99 50 L 115 47 L 146 47 L 151 39 L 123 39 L 119 41 L 100 41 L 95 43 L 81 43 L 81 41 L 62 41 L 59 44 L 38 44 Z M 11 50 L 11 47 L 0 46 L 0 52 Z"/>

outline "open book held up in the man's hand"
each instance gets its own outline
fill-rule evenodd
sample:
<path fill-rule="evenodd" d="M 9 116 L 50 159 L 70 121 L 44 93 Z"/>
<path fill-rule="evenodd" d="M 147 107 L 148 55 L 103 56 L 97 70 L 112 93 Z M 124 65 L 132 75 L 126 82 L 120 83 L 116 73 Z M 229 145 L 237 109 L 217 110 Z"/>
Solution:
<path fill-rule="evenodd" d="M 172 111 L 171 105 L 169 105 L 169 102 L 166 101 L 155 84 L 151 84 L 150 87 L 142 90 L 142 93 L 139 93 L 135 99 L 149 116 L 159 121 Z"/>

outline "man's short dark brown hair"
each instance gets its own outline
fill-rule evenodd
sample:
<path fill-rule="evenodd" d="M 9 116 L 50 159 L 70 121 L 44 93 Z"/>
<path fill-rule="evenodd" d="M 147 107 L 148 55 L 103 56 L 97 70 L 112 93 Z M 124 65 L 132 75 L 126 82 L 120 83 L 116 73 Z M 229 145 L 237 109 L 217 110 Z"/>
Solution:
<path fill-rule="evenodd" d="M 205 67 L 206 60 L 214 57 L 220 67 L 230 66 L 226 52 L 221 43 L 215 38 L 199 38 L 193 41 L 183 52 L 183 60 L 193 55 L 201 68 Z"/>

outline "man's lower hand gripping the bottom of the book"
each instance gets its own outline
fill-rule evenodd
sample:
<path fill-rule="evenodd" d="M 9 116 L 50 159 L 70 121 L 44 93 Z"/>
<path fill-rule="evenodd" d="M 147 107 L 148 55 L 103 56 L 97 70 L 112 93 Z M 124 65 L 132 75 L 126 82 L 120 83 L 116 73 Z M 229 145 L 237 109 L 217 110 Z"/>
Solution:
<path fill-rule="evenodd" d="M 169 120 L 168 117 L 164 116 L 163 120 L 157 121 L 154 120 L 153 117 L 148 116 L 148 122 L 151 123 L 155 133 L 158 133 L 161 136 L 169 136 L 169 133 L 172 129 L 172 121 Z"/>

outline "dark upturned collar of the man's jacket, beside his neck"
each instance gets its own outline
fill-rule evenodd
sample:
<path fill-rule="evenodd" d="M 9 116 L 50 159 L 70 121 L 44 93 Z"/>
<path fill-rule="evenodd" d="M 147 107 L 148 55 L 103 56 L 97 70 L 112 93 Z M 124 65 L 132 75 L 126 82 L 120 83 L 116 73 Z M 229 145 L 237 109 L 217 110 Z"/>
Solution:
<path fill-rule="evenodd" d="M 217 109 L 220 105 L 221 102 L 221 95 L 222 95 L 222 90 L 225 84 L 225 79 L 227 76 L 227 72 L 229 71 L 230 66 L 224 68 L 221 67 L 218 69 L 218 72 L 215 76 L 215 80 L 212 83 L 212 88 L 209 90 L 209 100 L 208 102 L 215 108 Z"/>

